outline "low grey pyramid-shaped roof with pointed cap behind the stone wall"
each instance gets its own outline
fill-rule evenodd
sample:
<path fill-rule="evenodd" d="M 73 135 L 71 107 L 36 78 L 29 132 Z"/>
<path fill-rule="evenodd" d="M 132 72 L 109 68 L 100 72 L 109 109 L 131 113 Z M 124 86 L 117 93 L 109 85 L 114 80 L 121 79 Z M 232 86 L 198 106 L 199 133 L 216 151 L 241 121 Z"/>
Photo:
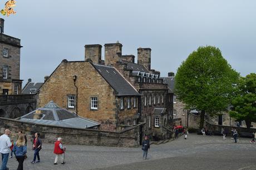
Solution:
<path fill-rule="evenodd" d="M 34 119 L 34 114 L 36 111 L 40 111 L 43 114 L 42 118 Z M 100 123 L 76 116 L 75 113 L 58 107 L 57 104 L 53 103 L 53 101 L 50 101 L 48 104 L 46 104 L 45 107 L 36 109 L 36 111 L 25 114 L 19 118 L 19 121 L 24 123 L 35 123 L 82 129 L 100 125 Z"/>

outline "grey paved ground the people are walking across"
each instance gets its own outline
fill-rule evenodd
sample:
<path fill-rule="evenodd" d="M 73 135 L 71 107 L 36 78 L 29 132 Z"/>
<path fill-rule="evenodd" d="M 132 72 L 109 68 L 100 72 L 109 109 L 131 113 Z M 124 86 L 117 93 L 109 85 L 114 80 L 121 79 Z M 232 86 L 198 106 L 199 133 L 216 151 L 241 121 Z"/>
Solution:
<path fill-rule="evenodd" d="M 53 144 L 43 144 L 41 162 L 31 164 L 33 152 L 28 146 L 24 169 L 256 169 L 256 144 L 249 138 L 239 143 L 220 136 L 189 134 L 173 142 L 152 145 L 147 160 L 142 159 L 141 148 L 94 147 L 67 145 L 66 164 L 53 165 Z M 10 169 L 17 161 L 8 161 Z"/>

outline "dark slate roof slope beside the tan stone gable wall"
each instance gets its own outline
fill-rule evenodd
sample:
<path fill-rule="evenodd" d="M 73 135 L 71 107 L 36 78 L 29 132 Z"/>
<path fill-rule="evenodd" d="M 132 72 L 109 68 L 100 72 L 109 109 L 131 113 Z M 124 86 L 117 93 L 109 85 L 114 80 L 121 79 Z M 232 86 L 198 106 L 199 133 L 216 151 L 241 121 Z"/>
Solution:
<path fill-rule="evenodd" d="M 93 66 L 119 96 L 139 96 L 136 89 L 121 76 L 115 67 L 100 64 L 93 64 Z"/>

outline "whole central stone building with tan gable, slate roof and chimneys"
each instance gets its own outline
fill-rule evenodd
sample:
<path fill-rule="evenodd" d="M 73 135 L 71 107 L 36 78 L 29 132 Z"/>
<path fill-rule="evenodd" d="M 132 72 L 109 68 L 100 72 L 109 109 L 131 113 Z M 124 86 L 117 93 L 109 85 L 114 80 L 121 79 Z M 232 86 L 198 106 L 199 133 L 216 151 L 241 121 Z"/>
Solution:
<path fill-rule="evenodd" d="M 101 48 L 86 45 L 85 61 L 64 59 L 42 85 L 38 107 L 52 100 L 103 129 L 144 122 L 140 137 L 169 138 L 172 97 L 160 72 L 150 68 L 151 49 L 138 48 L 138 64 L 135 56 L 122 55 L 121 43 L 105 44 L 105 60 Z"/>

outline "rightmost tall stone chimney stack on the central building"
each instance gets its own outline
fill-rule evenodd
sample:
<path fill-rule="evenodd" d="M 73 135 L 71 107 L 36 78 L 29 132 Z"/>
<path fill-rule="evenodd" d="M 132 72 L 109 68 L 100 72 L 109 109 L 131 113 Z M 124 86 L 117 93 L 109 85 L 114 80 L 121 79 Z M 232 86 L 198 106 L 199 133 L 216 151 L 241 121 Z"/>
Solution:
<path fill-rule="evenodd" d="M 138 64 L 146 67 L 148 71 L 151 69 L 151 48 L 138 48 Z"/>

